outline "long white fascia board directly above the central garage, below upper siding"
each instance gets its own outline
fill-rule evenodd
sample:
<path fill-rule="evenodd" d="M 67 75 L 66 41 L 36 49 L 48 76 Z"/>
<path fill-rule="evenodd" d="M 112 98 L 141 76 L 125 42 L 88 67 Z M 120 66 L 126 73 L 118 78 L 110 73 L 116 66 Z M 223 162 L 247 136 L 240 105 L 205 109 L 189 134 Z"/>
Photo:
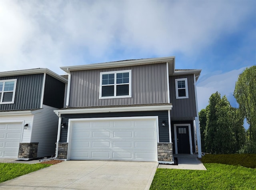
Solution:
<path fill-rule="evenodd" d="M 134 106 L 134 107 L 116 107 L 116 108 L 84 108 L 54 110 L 59 114 L 88 114 L 88 113 L 106 113 L 106 112 L 143 112 L 143 111 L 163 111 L 172 110 L 172 105 L 165 106 Z"/>

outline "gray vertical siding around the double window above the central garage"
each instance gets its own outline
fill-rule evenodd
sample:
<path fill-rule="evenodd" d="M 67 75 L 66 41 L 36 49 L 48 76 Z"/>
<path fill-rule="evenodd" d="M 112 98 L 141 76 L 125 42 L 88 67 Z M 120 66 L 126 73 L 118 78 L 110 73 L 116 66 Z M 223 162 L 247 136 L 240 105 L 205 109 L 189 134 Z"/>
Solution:
<path fill-rule="evenodd" d="M 132 70 L 132 97 L 99 99 L 100 72 Z M 168 103 L 166 63 L 71 72 L 69 107 Z"/>

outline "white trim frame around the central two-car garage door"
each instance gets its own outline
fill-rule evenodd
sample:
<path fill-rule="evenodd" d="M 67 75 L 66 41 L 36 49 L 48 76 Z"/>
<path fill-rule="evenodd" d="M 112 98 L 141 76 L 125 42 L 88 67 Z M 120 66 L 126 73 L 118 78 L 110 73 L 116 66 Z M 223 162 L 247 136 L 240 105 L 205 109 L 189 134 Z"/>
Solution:
<path fill-rule="evenodd" d="M 72 123 L 74 121 L 99 121 L 99 120 L 126 120 L 126 119 L 155 119 L 156 120 L 156 140 L 159 142 L 159 128 L 158 128 L 158 116 L 140 116 L 140 117 L 108 117 L 108 118 L 76 118 L 76 119 L 68 119 L 68 134 L 67 134 L 67 142 L 68 142 L 68 153 L 67 160 L 70 160 L 70 152 L 71 152 L 71 136 L 72 136 Z M 156 148 L 156 158 L 158 158 L 158 152 Z"/>

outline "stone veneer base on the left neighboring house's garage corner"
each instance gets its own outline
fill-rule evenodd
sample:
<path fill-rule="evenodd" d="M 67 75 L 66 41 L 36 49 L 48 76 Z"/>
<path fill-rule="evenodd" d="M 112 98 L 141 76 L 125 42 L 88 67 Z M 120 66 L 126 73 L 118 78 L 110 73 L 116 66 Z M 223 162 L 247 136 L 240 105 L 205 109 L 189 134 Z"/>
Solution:
<path fill-rule="evenodd" d="M 38 142 L 20 143 L 18 160 L 37 158 Z"/>

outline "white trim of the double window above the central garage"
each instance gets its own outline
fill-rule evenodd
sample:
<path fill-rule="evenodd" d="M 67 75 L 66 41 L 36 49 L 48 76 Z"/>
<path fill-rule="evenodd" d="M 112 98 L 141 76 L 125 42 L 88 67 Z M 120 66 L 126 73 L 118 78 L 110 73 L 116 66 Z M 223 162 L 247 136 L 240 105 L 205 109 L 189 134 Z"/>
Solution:
<path fill-rule="evenodd" d="M 129 73 L 129 95 L 127 96 L 116 96 L 116 74 L 117 73 L 124 73 L 128 72 Z M 103 74 L 114 74 L 114 96 L 103 96 L 102 97 L 102 75 Z M 128 84 L 128 83 L 125 83 Z M 109 71 L 109 72 L 100 72 L 100 93 L 99 93 L 100 98 L 99 99 L 109 99 L 109 98 L 131 98 L 132 97 L 132 70 L 118 70 L 118 71 Z"/>

